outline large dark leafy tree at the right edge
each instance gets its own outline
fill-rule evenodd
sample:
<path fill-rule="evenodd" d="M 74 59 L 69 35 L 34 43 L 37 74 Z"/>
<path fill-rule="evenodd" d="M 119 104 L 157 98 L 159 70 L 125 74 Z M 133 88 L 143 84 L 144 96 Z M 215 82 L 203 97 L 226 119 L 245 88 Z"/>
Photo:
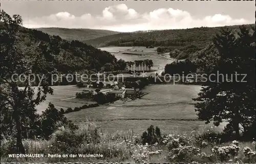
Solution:
<path fill-rule="evenodd" d="M 199 119 L 205 120 L 206 124 L 213 121 L 215 126 L 226 120 L 225 132 L 234 132 L 239 139 L 241 130 L 244 136 L 252 139 L 256 128 L 255 30 L 250 34 L 249 29 L 240 27 L 236 36 L 230 30 L 222 29 L 214 38 L 214 44 L 220 59 L 212 63 L 215 66 L 209 67 L 214 68 L 212 74 L 223 74 L 225 79 L 212 82 L 217 80 L 215 78 L 203 84 L 199 97 L 194 99 L 198 101 L 195 107 Z"/>

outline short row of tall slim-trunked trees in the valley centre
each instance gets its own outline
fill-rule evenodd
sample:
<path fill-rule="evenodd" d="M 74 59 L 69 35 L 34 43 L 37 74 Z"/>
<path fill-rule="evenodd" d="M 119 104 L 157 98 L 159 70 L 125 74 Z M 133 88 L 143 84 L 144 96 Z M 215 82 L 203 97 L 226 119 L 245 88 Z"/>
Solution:
<path fill-rule="evenodd" d="M 153 65 L 154 63 L 151 59 L 126 62 L 127 69 L 131 71 L 150 71 Z"/>

